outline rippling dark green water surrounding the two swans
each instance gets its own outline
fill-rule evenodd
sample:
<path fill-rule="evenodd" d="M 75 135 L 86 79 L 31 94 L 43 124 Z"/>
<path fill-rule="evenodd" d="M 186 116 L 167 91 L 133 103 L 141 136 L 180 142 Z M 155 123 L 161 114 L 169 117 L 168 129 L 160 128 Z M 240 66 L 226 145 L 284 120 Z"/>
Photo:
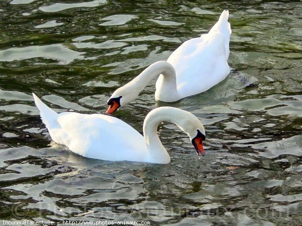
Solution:
<path fill-rule="evenodd" d="M 116 88 L 223 9 L 226 80 L 173 104 L 156 102 L 150 84 L 115 114 L 141 132 L 158 106 L 191 111 L 206 128 L 205 157 L 169 123 L 159 128 L 164 166 L 86 159 L 51 142 L 32 92 L 58 112 L 104 113 Z M 13 0 L 0 15 L 1 219 L 301 225 L 301 1 Z"/>

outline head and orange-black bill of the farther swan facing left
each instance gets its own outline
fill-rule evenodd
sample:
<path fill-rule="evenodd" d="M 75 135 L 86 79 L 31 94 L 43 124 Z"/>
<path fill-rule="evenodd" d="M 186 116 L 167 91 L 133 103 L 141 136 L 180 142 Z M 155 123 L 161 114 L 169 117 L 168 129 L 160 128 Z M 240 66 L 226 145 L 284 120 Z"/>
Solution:
<path fill-rule="evenodd" d="M 136 99 L 139 92 L 136 92 L 135 89 L 130 89 L 130 87 L 123 86 L 118 88 L 109 98 L 107 104 L 109 108 L 106 111 L 106 114 L 112 114 L 121 106 L 126 105 Z"/>

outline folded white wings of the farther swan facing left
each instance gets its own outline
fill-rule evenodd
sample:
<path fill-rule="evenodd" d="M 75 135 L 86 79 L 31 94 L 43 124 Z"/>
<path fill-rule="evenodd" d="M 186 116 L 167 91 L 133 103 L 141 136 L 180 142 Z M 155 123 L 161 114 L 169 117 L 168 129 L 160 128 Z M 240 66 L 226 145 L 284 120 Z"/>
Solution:
<path fill-rule="evenodd" d="M 182 97 L 202 93 L 230 73 L 221 33 L 202 35 L 184 42 L 168 58 L 176 71 L 177 90 Z"/>

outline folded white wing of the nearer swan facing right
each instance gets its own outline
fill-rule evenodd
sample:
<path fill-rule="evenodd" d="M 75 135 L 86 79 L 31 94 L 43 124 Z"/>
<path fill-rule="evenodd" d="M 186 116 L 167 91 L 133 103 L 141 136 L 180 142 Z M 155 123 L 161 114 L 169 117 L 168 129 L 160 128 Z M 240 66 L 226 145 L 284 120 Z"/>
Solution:
<path fill-rule="evenodd" d="M 110 161 L 144 161 L 142 135 L 127 123 L 106 115 L 71 113 L 58 118 L 68 148 L 81 156 Z"/>

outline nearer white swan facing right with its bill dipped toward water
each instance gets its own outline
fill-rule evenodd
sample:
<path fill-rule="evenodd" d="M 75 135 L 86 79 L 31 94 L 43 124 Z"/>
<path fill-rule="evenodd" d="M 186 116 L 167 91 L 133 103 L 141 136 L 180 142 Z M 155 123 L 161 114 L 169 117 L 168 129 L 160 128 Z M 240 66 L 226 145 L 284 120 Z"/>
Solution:
<path fill-rule="evenodd" d="M 101 114 L 56 113 L 34 93 L 32 95 L 52 140 L 81 156 L 107 161 L 168 164 L 170 156 L 157 133 L 162 121 L 175 123 L 188 134 L 197 155 L 204 156 L 205 130 L 190 112 L 174 107 L 156 108 L 145 117 L 142 136 L 118 118 Z"/>

